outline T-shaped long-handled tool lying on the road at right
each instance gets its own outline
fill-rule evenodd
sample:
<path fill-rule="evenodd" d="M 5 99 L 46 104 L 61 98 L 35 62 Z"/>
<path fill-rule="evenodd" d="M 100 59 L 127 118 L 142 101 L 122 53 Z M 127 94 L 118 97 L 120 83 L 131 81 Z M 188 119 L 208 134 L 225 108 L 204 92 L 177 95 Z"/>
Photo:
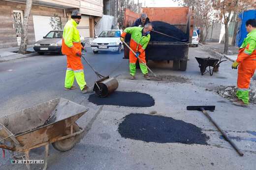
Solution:
<path fill-rule="evenodd" d="M 222 133 L 223 137 L 231 146 L 236 150 L 240 156 L 244 154 L 239 150 L 239 148 L 233 143 L 226 135 L 226 133 L 220 128 L 220 126 L 212 119 L 212 117 L 206 111 L 214 111 L 215 106 L 187 106 L 188 111 L 201 111 L 206 117 L 215 125 L 215 127 Z"/>

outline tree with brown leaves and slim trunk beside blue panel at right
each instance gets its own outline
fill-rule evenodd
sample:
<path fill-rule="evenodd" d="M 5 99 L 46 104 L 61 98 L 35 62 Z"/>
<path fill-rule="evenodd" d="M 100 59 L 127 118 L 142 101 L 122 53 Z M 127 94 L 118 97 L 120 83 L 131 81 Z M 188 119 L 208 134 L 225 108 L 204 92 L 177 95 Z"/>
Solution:
<path fill-rule="evenodd" d="M 228 51 L 228 23 L 231 14 L 237 14 L 249 7 L 256 7 L 255 0 L 212 0 L 213 7 L 218 11 L 217 17 L 225 25 L 224 53 Z M 236 30 L 235 30 L 236 31 Z"/>

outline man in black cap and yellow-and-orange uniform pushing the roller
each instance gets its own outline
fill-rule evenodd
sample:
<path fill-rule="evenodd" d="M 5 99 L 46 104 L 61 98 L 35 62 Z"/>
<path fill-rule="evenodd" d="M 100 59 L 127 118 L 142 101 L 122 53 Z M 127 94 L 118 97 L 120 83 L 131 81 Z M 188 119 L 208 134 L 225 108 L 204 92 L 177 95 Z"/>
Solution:
<path fill-rule="evenodd" d="M 63 31 L 62 53 L 67 58 L 67 69 L 65 77 L 65 90 L 75 89 L 73 85 L 76 79 L 82 93 L 88 92 L 88 86 L 85 82 L 84 67 L 81 61 L 82 46 L 80 43 L 79 31 L 77 25 L 81 21 L 81 14 L 78 10 L 74 10 Z"/>

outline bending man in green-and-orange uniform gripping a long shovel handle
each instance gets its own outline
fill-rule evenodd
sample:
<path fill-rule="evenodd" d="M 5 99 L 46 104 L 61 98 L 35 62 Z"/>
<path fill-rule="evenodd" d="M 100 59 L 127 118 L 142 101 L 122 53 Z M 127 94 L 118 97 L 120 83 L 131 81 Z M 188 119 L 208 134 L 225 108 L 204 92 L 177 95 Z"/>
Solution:
<path fill-rule="evenodd" d="M 126 34 L 131 34 L 130 48 L 136 53 L 136 55 L 134 55 L 132 51 L 129 52 L 130 80 L 135 79 L 134 76 L 136 73 L 136 62 L 138 57 L 140 58 L 139 65 L 144 78 L 150 80 L 147 66 L 144 63 L 146 63 L 145 49 L 150 41 L 150 31 L 152 28 L 151 24 L 146 24 L 144 28 L 129 27 L 126 28 L 121 35 L 121 41 L 124 42 Z"/>

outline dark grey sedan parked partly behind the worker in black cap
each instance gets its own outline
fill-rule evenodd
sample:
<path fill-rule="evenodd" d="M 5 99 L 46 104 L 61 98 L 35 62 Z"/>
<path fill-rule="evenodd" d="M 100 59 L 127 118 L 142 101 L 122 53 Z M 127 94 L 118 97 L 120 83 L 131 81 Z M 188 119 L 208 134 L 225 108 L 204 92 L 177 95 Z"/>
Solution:
<path fill-rule="evenodd" d="M 44 53 L 59 53 L 62 54 L 62 34 L 63 30 L 52 30 L 47 33 L 43 39 L 36 41 L 34 51 L 39 55 Z M 80 36 L 81 45 L 84 47 L 85 38 Z"/>

